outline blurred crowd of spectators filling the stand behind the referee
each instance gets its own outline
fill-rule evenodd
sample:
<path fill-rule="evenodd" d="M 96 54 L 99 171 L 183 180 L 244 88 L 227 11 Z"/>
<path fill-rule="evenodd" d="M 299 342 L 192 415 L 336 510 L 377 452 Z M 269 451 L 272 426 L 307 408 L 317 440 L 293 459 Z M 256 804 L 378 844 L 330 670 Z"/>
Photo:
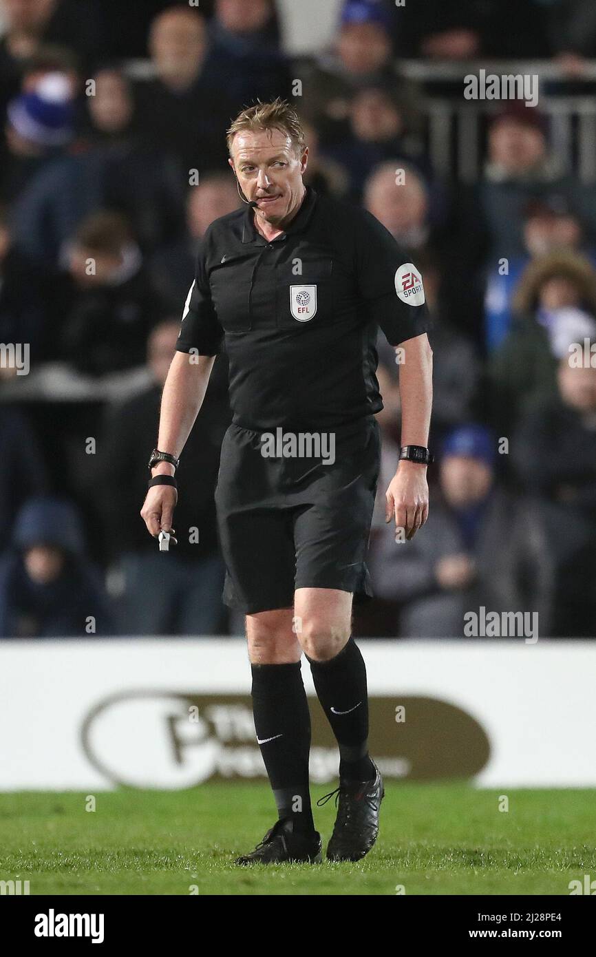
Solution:
<path fill-rule="evenodd" d="M 481 605 L 595 634 L 596 187 L 519 101 L 487 118 L 477 181 L 446 178 L 428 92 L 400 73 L 402 58 L 543 57 L 577 81 L 593 0 L 344 0 L 329 49 L 299 59 L 274 0 L 0 0 L 0 17 L 0 342 L 29 349 L 28 375 L 8 351 L 0 365 L 0 636 L 239 630 L 213 505 L 225 355 L 177 473 L 175 550 L 139 512 L 194 259 L 240 202 L 225 131 L 277 96 L 304 122 L 306 182 L 381 220 L 434 320 L 437 464 L 408 544 L 384 523 L 399 366 L 379 339 L 378 599 L 356 634 L 462 636 Z"/>

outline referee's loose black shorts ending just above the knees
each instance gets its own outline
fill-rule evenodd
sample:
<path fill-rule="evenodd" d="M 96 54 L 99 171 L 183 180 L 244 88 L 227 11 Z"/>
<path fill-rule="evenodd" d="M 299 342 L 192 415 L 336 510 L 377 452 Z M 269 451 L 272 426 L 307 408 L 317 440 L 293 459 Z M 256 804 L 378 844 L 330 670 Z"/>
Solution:
<path fill-rule="evenodd" d="M 364 558 L 380 468 L 374 416 L 333 430 L 335 461 L 264 457 L 262 433 L 231 425 L 215 504 L 224 602 L 245 614 L 291 608 L 301 588 L 372 597 Z M 323 452 L 328 455 L 329 446 Z"/>

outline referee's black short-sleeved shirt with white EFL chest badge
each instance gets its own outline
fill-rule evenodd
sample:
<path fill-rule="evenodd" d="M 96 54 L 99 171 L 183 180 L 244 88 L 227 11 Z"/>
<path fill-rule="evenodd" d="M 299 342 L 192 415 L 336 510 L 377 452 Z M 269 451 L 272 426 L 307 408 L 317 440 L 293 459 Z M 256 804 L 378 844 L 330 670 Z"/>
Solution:
<path fill-rule="evenodd" d="M 391 345 L 429 329 L 421 275 L 369 212 L 309 187 L 272 242 L 251 207 L 211 223 L 177 349 L 225 342 L 236 425 L 323 432 L 383 409 L 378 326 Z"/>

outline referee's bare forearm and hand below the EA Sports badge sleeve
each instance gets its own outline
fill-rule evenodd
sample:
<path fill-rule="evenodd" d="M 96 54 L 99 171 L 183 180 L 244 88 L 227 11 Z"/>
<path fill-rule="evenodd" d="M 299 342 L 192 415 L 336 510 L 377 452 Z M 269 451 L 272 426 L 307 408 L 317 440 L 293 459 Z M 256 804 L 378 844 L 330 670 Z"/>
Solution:
<path fill-rule="evenodd" d="M 402 406 L 401 444 L 429 444 L 432 407 L 432 349 L 426 332 L 401 343 L 404 358 L 399 365 Z M 416 534 L 429 516 L 427 466 L 401 459 L 386 491 L 386 522 L 395 517 L 396 531 L 405 529 L 407 539 Z"/>

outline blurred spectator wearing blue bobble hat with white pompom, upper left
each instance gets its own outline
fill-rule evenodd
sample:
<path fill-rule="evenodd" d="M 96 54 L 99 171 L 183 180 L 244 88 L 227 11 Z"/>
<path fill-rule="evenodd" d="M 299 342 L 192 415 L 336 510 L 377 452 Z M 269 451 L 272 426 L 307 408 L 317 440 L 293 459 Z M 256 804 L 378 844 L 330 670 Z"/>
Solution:
<path fill-rule="evenodd" d="M 75 110 L 70 78 L 54 73 L 39 78 L 11 100 L 6 126 L 7 162 L 1 197 L 13 202 L 41 167 L 59 156 L 74 138 Z"/>

